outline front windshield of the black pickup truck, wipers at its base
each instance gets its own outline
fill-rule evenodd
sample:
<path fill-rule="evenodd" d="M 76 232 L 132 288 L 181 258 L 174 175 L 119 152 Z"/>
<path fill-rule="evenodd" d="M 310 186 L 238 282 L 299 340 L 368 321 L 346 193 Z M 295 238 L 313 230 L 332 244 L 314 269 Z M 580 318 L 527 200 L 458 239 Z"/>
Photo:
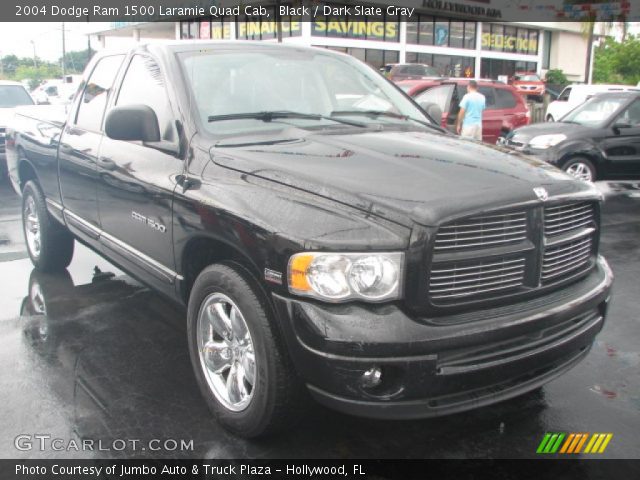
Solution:
<path fill-rule="evenodd" d="M 180 54 L 180 60 L 202 125 L 211 133 L 272 130 L 276 123 L 309 129 L 353 128 L 354 122 L 345 125 L 344 120 L 363 126 L 429 123 L 378 72 L 348 56 L 294 48 L 214 48 Z M 247 115 L 264 112 L 296 115 Z"/>

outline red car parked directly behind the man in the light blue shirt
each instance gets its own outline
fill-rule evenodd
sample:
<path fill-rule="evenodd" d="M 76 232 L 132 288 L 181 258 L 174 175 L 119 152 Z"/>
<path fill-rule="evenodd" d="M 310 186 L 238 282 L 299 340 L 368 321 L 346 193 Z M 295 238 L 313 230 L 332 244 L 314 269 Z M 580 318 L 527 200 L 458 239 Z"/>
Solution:
<path fill-rule="evenodd" d="M 482 115 L 482 140 L 496 143 L 511 130 L 528 125 L 531 114 L 523 97 L 510 85 L 493 80 L 478 80 L 478 91 L 485 96 L 486 109 Z M 423 108 L 430 104 L 442 112 L 441 124 L 455 131 L 459 103 L 467 93 L 468 78 L 437 80 L 405 80 L 396 85 Z M 432 111 L 431 111 L 432 112 Z"/>

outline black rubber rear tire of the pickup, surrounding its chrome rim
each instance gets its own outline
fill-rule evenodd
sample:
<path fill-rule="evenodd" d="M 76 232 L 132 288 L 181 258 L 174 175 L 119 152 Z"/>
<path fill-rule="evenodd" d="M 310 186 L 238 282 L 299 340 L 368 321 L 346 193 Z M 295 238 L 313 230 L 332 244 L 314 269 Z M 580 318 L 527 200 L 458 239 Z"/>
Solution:
<path fill-rule="evenodd" d="M 38 221 L 39 249 L 31 245 L 28 239 L 27 206 L 35 206 Z M 27 244 L 27 253 L 33 265 L 43 272 L 59 272 L 71 263 L 73 258 L 73 236 L 64 225 L 49 215 L 44 195 L 38 184 L 28 181 L 22 190 L 22 231 Z"/>

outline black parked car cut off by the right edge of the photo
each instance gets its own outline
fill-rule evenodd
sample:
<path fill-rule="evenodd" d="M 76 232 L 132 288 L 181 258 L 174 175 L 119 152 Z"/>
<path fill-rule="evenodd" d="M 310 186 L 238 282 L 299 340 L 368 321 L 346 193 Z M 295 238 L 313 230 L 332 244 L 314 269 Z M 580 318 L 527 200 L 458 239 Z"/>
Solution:
<path fill-rule="evenodd" d="M 596 94 L 559 122 L 515 130 L 505 144 L 580 180 L 640 178 L 640 92 Z"/>

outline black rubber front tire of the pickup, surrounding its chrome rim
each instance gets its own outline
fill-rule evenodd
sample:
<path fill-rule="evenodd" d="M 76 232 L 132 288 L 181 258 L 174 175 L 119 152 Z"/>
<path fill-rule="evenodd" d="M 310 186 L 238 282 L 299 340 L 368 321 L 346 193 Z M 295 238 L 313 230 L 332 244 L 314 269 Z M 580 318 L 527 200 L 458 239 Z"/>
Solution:
<path fill-rule="evenodd" d="M 255 383 L 249 404 L 233 411 L 214 395 L 200 362 L 198 316 L 214 294 L 230 298 L 248 327 L 255 354 Z M 299 419 L 305 389 L 291 364 L 266 294 L 241 265 L 215 264 L 196 279 L 189 298 L 187 335 L 191 363 L 200 390 L 216 420 L 227 430 L 246 438 L 265 436 L 291 426 Z"/>

